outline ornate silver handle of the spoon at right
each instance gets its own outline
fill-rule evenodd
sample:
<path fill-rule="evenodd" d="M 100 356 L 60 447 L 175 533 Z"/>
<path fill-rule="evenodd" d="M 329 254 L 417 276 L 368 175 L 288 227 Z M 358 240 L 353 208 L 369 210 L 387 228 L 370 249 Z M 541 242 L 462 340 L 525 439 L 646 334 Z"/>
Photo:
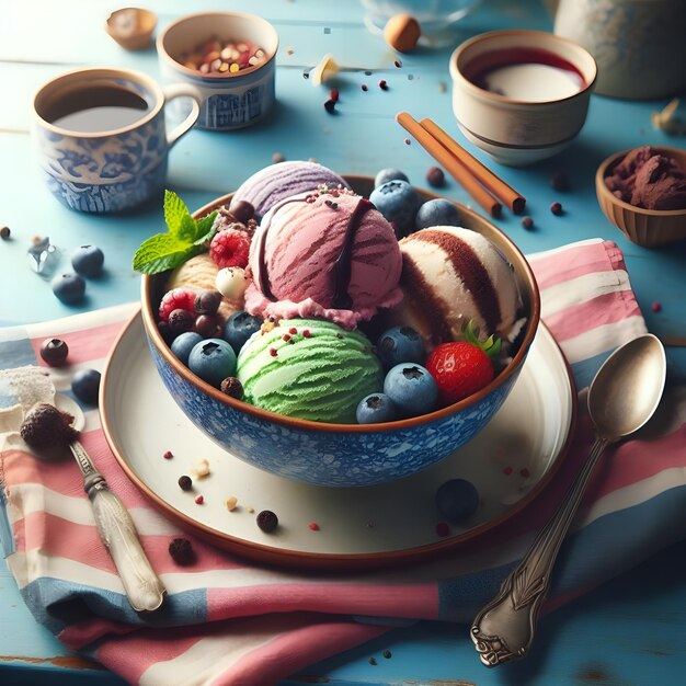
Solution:
<path fill-rule="evenodd" d="M 503 581 L 498 596 L 477 615 L 470 636 L 485 666 L 494 667 L 522 658 L 530 648 L 560 546 L 598 458 L 609 443 L 607 438 L 595 439 L 588 458 L 551 519 L 539 531 L 519 564 Z"/>

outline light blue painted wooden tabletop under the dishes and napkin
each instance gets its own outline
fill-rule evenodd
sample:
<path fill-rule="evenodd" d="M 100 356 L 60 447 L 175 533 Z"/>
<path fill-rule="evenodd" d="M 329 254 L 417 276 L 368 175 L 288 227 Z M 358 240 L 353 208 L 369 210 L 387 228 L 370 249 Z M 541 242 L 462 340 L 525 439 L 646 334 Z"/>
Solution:
<path fill-rule="evenodd" d="M 152 0 L 147 7 L 158 12 L 160 26 L 199 9 L 190 0 Z M 127 53 L 105 34 L 104 21 L 114 8 L 78 0 L 4 0 L 0 4 L 0 226 L 12 231 L 11 240 L 0 243 L 0 324 L 50 320 L 138 298 L 139 279 L 130 260 L 145 238 L 162 230 L 161 203 L 119 217 L 65 209 L 42 185 L 30 137 L 32 94 L 59 72 L 112 66 L 159 76 L 153 48 Z M 671 139 L 651 128 L 651 112 L 665 102 L 594 95 L 586 125 L 567 151 L 530 169 L 502 168 L 471 148 L 457 130 L 447 66 L 451 48 L 420 49 L 402 56 L 402 66 L 397 67 L 398 56 L 364 28 L 356 2 L 206 0 L 202 9 L 258 11 L 275 25 L 281 37 L 278 104 L 259 126 L 232 134 L 192 130 L 173 149 L 168 187 L 190 207 L 236 188 L 275 153 L 286 159 L 315 158 L 341 173 L 374 175 L 381 167 L 399 167 L 415 185 L 426 186 L 424 175 L 433 160 L 416 144 L 405 145 L 405 133 L 393 121 L 398 111 L 408 110 L 416 118 L 432 117 L 527 197 L 533 230 L 523 229 L 519 218 L 511 214 L 499 221 L 525 252 L 593 237 L 617 241 L 649 330 L 662 336 L 686 333 L 686 242 L 652 251 L 633 245 L 601 214 L 594 191 L 595 169 L 611 152 L 644 144 L 684 146 L 684 139 Z M 550 30 L 551 19 L 538 2 L 488 0 L 461 23 L 455 45 L 501 27 Z M 327 53 L 343 68 L 336 81 L 341 100 L 335 116 L 323 107 L 328 88 L 313 87 L 302 76 Z M 380 79 L 387 81 L 388 90 L 378 87 Z M 563 194 L 549 183 L 559 170 L 572 183 Z M 445 194 L 471 203 L 453 181 Z M 562 203 L 563 216 L 549 211 L 553 201 Z M 89 283 L 81 306 L 61 305 L 49 281 L 28 268 L 25 253 L 35 236 L 48 236 L 62 251 L 60 266 L 65 268 L 77 245 L 94 243 L 103 249 L 106 275 Z M 654 302 L 661 305 L 660 311 L 653 311 Z M 667 354 L 670 374 L 684 376 L 686 352 L 670 347 Z M 686 547 L 679 545 L 546 618 L 533 654 L 495 671 L 479 663 L 467 627 L 420 625 L 312 666 L 287 683 L 682 684 L 686 673 L 685 578 Z M 386 649 L 392 658 L 381 656 Z M 376 665 L 370 664 L 373 656 Z M 71 655 L 39 627 L 0 563 L 0 684 L 90 683 L 122 684 L 98 665 Z"/>

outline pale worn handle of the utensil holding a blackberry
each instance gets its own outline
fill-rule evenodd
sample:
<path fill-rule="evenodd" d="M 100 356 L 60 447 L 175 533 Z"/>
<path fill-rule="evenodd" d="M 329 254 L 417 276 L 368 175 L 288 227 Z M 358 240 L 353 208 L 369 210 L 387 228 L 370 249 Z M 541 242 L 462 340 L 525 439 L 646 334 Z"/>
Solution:
<path fill-rule="evenodd" d="M 132 607 L 136 611 L 156 610 L 162 605 L 165 590 L 140 546 L 128 510 L 110 490 L 83 446 L 75 441 L 69 447 L 83 473 L 83 490 L 91 501 L 98 533 L 112 556 Z"/>

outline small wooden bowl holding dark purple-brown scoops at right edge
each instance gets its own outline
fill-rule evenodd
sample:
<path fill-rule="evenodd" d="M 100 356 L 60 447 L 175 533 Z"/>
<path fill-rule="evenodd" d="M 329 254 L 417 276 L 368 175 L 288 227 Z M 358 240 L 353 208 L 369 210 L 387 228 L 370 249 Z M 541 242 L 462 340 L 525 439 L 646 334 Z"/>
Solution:
<path fill-rule="evenodd" d="M 651 146 L 675 159 L 686 170 L 686 150 Z M 685 209 L 643 209 L 619 199 L 605 185 L 605 178 L 629 150 L 608 157 L 595 173 L 595 192 L 603 214 L 632 242 L 643 248 L 659 248 L 686 238 Z"/>

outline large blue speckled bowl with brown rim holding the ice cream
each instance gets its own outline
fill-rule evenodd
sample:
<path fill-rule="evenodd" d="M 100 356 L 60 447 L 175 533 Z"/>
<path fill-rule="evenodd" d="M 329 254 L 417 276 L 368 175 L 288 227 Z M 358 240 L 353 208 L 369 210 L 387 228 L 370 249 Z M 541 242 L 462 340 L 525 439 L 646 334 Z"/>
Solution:
<path fill-rule="evenodd" d="M 346 178 L 363 195 L 373 180 Z M 425 198 L 435 197 L 423 193 Z M 196 213 L 203 216 L 231 196 Z M 157 324 L 157 305 L 167 273 L 142 277 L 142 320 L 155 364 L 164 385 L 188 419 L 232 455 L 266 471 L 319 485 L 364 487 L 412 475 L 447 457 L 477 435 L 512 390 L 540 319 L 534 274 L 514 243 L 492 224 L 459 207 L 464 226 L 493 241 L 512 263 L 527 322 L 522 344 L 507 367 L 484 389 L 430 414 L 387 424 L 327 424 L 290 419 L 229 398 L 192 374 L 172 354 Z"/>

